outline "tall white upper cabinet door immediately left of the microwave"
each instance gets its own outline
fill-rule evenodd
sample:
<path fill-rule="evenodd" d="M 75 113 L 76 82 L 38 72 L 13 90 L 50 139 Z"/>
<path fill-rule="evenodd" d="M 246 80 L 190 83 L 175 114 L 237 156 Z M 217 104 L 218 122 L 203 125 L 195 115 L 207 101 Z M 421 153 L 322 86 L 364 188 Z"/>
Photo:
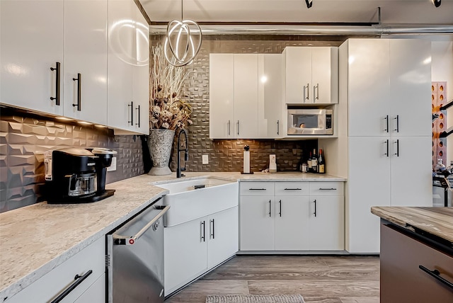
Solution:
<path fill-rule="evenodd" d="M 282 55 L 258 55 L 258 138 L 282 137 Z"/>

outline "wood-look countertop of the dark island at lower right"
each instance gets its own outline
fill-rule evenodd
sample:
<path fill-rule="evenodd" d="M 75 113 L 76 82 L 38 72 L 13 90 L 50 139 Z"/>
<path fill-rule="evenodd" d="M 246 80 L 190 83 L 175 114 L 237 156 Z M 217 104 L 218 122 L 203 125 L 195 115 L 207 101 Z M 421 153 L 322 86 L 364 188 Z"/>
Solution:
<path fill-rule="evenodd" d="M 453 243 L 453 207 L 371 207 L 371 212 L 401 227 L 415 227 Z"/>

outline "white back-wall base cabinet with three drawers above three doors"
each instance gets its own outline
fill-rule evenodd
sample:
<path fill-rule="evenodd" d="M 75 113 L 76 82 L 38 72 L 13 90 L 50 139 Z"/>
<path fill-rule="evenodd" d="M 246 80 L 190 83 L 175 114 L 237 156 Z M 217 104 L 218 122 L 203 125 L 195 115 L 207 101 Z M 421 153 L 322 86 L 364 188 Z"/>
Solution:
<path fill-rule="evenodd" d="M 344 249 L 341 182 L 240 184 L 241 251 Z"/>

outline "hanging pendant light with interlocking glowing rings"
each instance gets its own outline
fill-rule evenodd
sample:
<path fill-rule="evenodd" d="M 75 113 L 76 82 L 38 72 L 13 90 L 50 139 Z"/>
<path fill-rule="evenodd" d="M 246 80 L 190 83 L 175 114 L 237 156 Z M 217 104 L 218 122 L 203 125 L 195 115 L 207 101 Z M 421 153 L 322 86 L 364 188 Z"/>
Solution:
<path fill-rule="evenodd" d="M 168 22 L 164 43 L 164 54 L 168 63 L 175 67 L 191 64 L 200 52 L 202 32 L 200 25 L 193 20 L 183 18 L 183 0 L 181 0 L 181 21 Z"/>

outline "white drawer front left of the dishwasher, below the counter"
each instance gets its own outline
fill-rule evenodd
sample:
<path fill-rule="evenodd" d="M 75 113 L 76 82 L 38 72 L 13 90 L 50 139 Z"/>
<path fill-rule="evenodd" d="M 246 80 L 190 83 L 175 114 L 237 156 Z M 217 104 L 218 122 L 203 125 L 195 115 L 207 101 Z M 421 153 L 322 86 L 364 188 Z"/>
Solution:
<path fill-rule="evenodd" d="M 92 270 L 91 274 L 88 274 Z M 64 263 L 58 265 L 49 273 L 33 282 L 17 295 L 7 300 L 8 303 L 20 302 L 52 302 L 53 299 L 67 290 L 75 280 L 76 275 L 85 276 L 74 290 L 61 302 L 74 302 L 92 285 L 105 271 L 105 239 L 96 240 L 86 248 L 76 253 Z M 82 278 L 79 278 L 82 279 Z"/>

